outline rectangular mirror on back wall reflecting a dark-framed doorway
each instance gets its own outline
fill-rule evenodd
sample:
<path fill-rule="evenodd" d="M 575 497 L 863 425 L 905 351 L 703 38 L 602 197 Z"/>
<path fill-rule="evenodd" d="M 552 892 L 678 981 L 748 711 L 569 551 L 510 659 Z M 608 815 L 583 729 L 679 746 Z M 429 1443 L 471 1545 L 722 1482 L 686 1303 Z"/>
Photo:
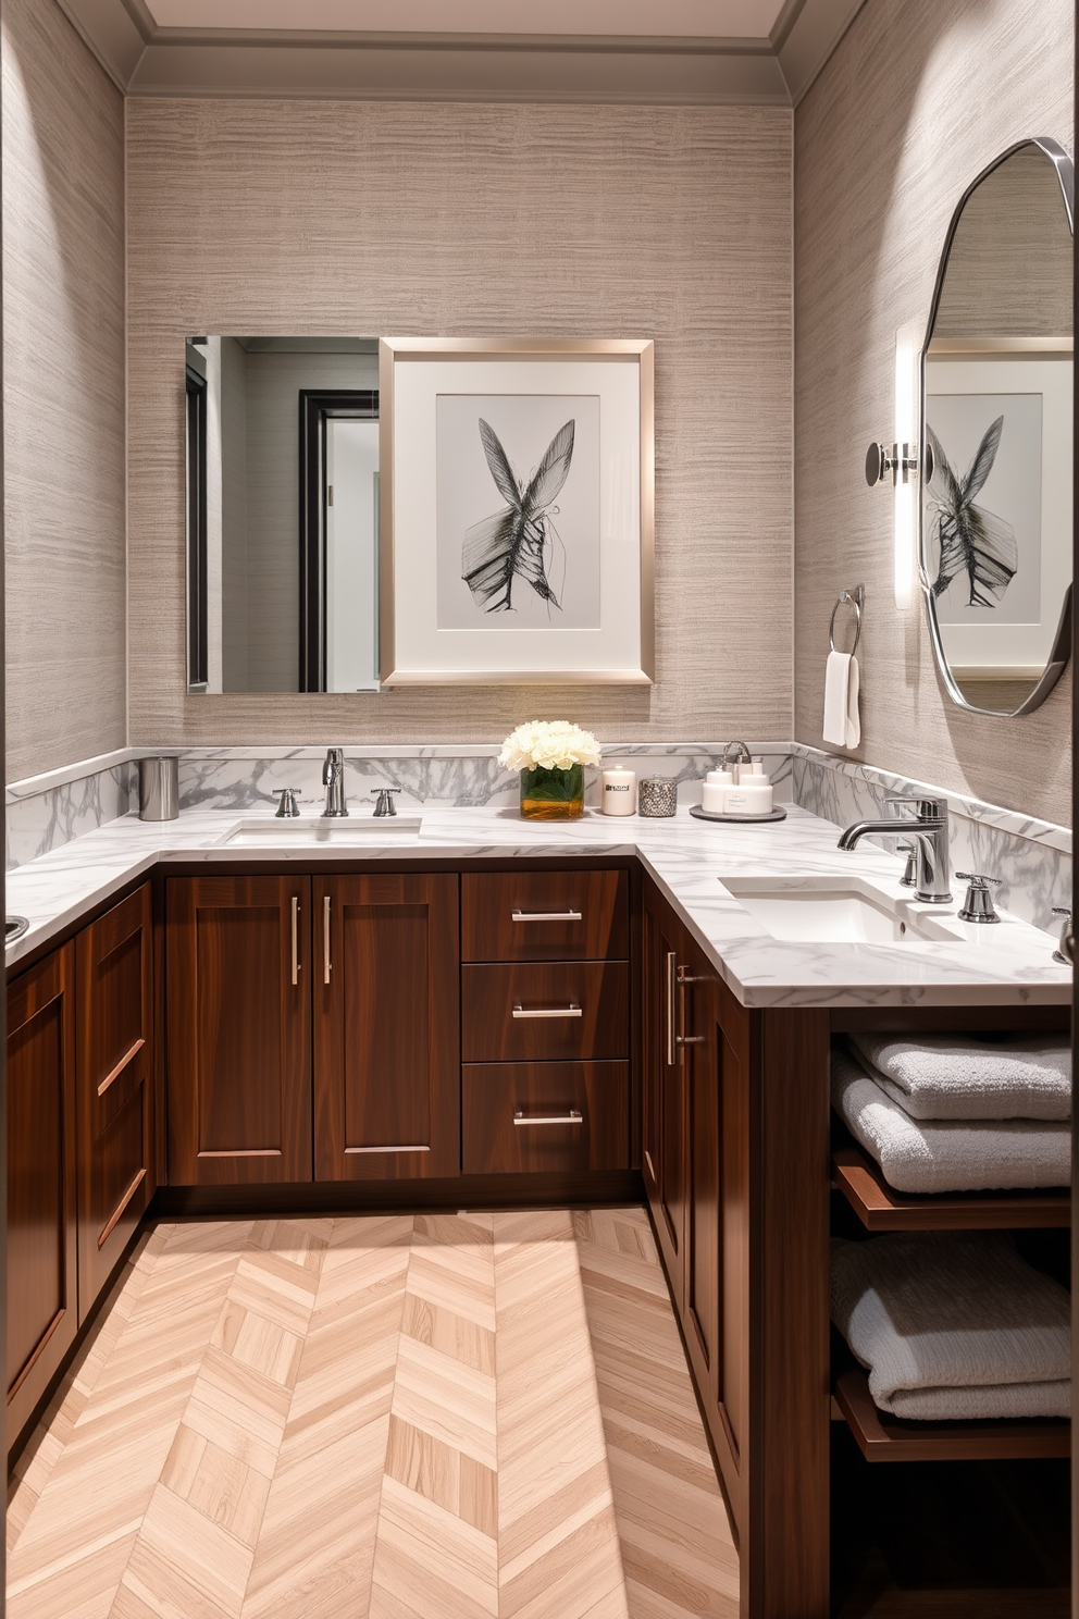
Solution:
<path fill-rule="evenodd" d="M 379 340 L 191 337 L 188 690 L 379 690 Z"/>

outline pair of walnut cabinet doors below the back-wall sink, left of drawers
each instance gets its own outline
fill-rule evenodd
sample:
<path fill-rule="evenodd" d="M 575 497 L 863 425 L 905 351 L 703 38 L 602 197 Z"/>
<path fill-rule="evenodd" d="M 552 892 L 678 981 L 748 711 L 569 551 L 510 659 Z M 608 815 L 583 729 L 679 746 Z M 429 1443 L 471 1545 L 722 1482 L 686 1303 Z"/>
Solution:
<path fill-rule="evenodd" d="M 173 1185 L 455 1175 L 456 876 L 170 877 Z"/>

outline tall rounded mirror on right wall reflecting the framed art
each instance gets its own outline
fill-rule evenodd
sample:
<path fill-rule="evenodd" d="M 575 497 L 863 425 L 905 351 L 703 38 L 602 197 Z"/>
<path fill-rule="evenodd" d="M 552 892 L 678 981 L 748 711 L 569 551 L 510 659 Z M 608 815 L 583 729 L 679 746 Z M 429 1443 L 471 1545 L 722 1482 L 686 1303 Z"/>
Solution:
<path fill-rule="evenodd" d="M 1029 714 L 1071 656 L 1073 210 L 1055 141 L 979 175 L 922 350 L 922 586 L 945 685 L 980 714 Z"/>

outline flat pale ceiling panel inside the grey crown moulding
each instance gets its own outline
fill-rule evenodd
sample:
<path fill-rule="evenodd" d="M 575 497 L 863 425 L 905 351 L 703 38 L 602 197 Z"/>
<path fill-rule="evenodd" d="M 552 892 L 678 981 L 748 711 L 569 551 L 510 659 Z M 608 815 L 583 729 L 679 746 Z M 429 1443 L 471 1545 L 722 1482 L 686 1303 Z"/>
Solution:
<path fill-rule="evenodd" d="M 146 0 L 159 28 L 767 39 L 785 0 Z"/>

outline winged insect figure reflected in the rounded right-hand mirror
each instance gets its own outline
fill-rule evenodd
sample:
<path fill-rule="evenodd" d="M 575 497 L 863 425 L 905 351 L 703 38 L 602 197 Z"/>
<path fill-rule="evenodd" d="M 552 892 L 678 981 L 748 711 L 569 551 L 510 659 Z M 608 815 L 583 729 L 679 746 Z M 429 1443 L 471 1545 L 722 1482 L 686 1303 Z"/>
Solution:
<path fill-rule="evenodd" d="M 1011 523 L 974 504 L 993 470 L 1005 418 L 998 416 L 985 429 L 966 478 L 959 478 L 932 427 L 925 429 L 933 450 L 933 491 L 940 562 L 933 580 L 933 599 L 940 599 L 953 580 L 966 575 L 967 607 L 996 607 L 1019 568 L 1019 547 Z"/>

